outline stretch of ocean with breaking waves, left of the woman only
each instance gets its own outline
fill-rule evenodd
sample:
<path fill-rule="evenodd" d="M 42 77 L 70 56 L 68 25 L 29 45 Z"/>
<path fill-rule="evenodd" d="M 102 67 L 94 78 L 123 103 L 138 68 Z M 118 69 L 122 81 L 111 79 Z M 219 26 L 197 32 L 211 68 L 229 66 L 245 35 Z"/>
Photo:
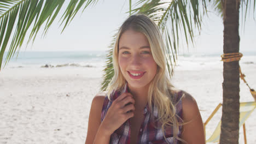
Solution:
<path fill-rule="evenodd" d="M 101 67 L 106 61 L 106 51 L 22 51 L 15 53 L 7 68 L 44 67 Z M 4 53 L 5 60 L 7 52 Z"/>

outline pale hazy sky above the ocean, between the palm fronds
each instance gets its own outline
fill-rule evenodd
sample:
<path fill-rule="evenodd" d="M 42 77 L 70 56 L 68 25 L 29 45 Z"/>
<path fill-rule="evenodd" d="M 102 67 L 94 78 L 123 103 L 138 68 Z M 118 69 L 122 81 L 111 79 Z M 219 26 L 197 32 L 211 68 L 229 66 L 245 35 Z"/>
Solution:
<path fill-rule="evenodd" d="M 60 22 L 57 22 L 60 16 L 57 17 L 45 38 L 39 32 L 34 44 L 26 47 L 24 43 L 21 51 L 107 51 L 112 36 L 129 16 L 127 11 L 127 0 L 98 1 L 83 13 L 80 10 L 62 34 Z M 245 29 L 240 25 L 241 52 L 256 52 L 255 26 L 256 21 L 250 13 Z M 179 48 L 179 53 L 190 52 L 223 53 L 223 22 L 216 12 L 210 10 L 208 17 L 204 17 L 201 33 L 195 35 L 195 46 L 184 45 Z"/>

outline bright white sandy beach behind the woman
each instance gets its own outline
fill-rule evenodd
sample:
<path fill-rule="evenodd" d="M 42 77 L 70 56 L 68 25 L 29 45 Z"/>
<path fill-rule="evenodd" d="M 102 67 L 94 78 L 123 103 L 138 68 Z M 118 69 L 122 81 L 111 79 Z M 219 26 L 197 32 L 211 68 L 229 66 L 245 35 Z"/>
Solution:
<path fill-rule="evenodd" d="M 222 103 L 222 62 L 217 67 L 176 68 L 172 83 L 196 99 L 203 122 Z M 256 89 L 256 62 L 242 63 Z M 0 72 L 0 143 L 84 143 L 91 100 L 100 91 L 102 68 L 5 68 Z M 240 101 L 253 101 L 240 81 Z M 221 111 L 207 125 L 213 131 Z M 256 110 L 246 122 L 247 143 L 256 143 Z M 243 132 L 240 129 L 240 143 Z"/>

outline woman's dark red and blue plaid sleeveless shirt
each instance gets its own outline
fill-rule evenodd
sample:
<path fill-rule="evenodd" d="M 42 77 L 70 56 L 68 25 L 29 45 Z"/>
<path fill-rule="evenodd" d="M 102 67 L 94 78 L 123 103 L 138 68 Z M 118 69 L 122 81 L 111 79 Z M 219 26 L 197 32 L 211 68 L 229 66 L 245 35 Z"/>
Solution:
<path fill-rule="evenodd" d="M 101 122 L 103 121 L 104 117 L 107 114 L 107 111 L 109 107 L 112 105 L 113 101 L 119 97 L 122 93 L 127 92 L 127 87 L 123 90 L 123 92 L 116 91 L 110 94 L 110 100 L 106 96 L 103 106 L 102 106 L 102 112 L 101 112 Z M 183 95 L 183 91 L 179 91 L 177 93 L 174 93 L 174 98 L 176 98 L 176 115 L 180 118 L 177 118 L 178 122 L 181 123 L 182 120 L 182 101 L 181 97 Z M 152 112 L 149 110 L 149 106 L 144 108 L 144 119 L 141 124 L 141 128 L 139 130 L 137 143 L 143 143 L 143 144 L 157 144 L 157 143 L 163 143 L 163 144 L 171 144 L 171 143 L 179 143 L 178 140 L 173 138 L 173 130 L 172 127 L 168 127 L 165 129 L 165 134 L 162 133 L 161 129 L 161 123 L 157 121 L 158 118 L 158 109 L 156 107 L 152 107 Z M 153 118 L 152 118 L 153 117 Z M 181 136 L 181 128 L 182 126 L 179 126 L 178 136 Z M 164 138 L 164 135 L 166 137 L 166 140 Z M 110 136 L 110 144 L 124 144 L 129 143 L 130 144 L 130 136 L 131 136 L 131 122 L 130 119 L 128 119 L 123 125 L 121 125 L 117 130 L 114 131 L 114 133 Z"/>

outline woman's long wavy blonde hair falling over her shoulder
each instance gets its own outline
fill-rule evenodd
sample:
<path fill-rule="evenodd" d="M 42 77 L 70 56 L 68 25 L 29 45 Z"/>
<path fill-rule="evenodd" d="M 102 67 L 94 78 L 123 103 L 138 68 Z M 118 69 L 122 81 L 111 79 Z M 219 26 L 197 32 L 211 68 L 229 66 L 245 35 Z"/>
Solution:
<path fill-rule="evenodd" d="M 117 38 L 115 40 L 113 49 L 113 67 L 114 76 L 110 81 L 107 92 L 110 99 L 110 93 L 113 91 L 121 91 L 125 87 L 126 80 L 121 74 L 121 70 L 118 64 L 118 45 L 121 35 L 129 30 L 140 32 L 144 34 L 150 45 L 154 61 L 158 65 L 158 70 L 150 82 L 148 91 L 148 105 L 150 110 L 152 107 L 157 107 L 158 109 L 158 120 L 162 123 L 161 128 L 164 134 L 165 128 L 168 126 L 173 127 L 173 138 L 181 140 L 178 137 L 179 123 L 176 116 L 176 107 L 173 98 L 174 87 L 170 83 L 170 77 L 166 69 L 166 52 L 165 45 L 162 40 L 161 33 L 158 26 L 155 25 L 154 21 L 149 19 L 146 15 L 136 14 L 130 16 L 120 27 Z M 152 106 L 153 105 L 153 106 Z M 165 137 L 166 139 L 166 137 Z"/>

